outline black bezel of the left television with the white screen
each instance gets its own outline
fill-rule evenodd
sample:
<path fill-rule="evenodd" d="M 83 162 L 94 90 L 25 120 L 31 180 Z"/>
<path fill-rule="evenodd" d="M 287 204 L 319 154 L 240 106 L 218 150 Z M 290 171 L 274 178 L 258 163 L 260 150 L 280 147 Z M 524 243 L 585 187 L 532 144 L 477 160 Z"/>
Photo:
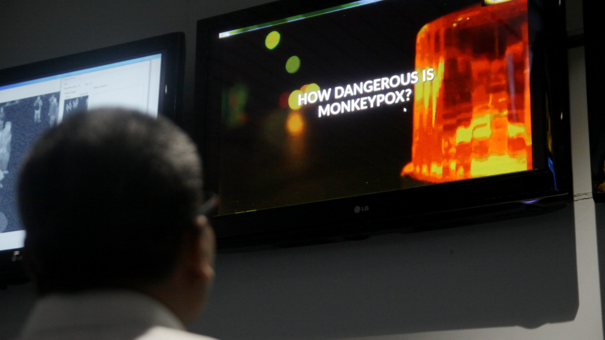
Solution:
<path fill-rule="evenodd" d="M 162 53 L 158 113 L 175 122 L 182 119 L 185 74 L 185 33 L 173 32 L 82 53 L 41 60 L 0 70 L 0 86 Z M 27 282 L 22 249 L 0 250 L 0 287 Z M 76 255 L 77 256 L 77 255 Z"/>

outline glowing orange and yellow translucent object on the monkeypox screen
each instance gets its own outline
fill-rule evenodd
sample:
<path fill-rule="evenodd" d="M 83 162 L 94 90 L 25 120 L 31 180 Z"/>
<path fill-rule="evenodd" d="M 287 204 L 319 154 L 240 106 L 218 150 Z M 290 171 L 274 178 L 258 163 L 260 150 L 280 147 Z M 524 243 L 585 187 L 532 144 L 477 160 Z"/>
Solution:
<path fill-rule="evenodd" d="M 474 5 L 420 29 L 412 160 L 402 171 L 440 183 L 532 169 L 526 0 Z"/>

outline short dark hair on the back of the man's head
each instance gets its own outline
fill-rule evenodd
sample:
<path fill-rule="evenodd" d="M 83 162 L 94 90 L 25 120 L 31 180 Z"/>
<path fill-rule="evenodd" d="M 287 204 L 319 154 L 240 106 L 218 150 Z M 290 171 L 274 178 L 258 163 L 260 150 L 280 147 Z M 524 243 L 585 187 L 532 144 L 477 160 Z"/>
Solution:
<path fill-rule="evenodd" d="M 68 117 L 35 143 L 18 184 L 39 293 L 165 278 L 201 186 L 197 148 L 168 119 L 120 109 Z"/>

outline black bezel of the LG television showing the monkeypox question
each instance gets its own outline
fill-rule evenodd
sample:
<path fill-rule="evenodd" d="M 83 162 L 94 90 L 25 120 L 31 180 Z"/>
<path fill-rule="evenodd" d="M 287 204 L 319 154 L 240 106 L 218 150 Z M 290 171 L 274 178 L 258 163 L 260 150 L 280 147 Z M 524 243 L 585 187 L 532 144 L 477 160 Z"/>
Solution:
<path fill-rule="evenodd" d="M 210 61 L 212 37 L 347 2 L 280 0 L 198 21 L 195 96 L 199 129 L 194 137 L 203 151 L 209 191 L 217 190 L 213 166 L 220 157 L 220 112 L 209 110 L 209 96 L 217 94 L 208 73 L 209 68 L 217 67 Z M 529 0 L 528 7 L 530 25 L 544 28 L 533 46 L 532 103 L 541 102 L 543 110 L 548 111 L 548 118 L 541 121 L 542 128 L 535 131 L 534 138 L 539 136 L 540 140 L 534 146 L 546 148 L 546 139 L 552 136 L 554 173 L 544 165 L 531 171 L 221 215 L 213 220 L 219 248 L 283 246 L 427 230 L 546 212 L 568 204 L 572 199 L 569 90 L 566 47 L 561 44 L 566 39 L 565 6 L 564 2 Z M 540 11 L 546 13 L 539 15 Z M 533 108 L 532 104 L 532 112 Z M 453 200 L 453 192 L 463 192 L 462 197 L 459 194 Z M 362 209 L 355 212 L 355 207 Z"/>

